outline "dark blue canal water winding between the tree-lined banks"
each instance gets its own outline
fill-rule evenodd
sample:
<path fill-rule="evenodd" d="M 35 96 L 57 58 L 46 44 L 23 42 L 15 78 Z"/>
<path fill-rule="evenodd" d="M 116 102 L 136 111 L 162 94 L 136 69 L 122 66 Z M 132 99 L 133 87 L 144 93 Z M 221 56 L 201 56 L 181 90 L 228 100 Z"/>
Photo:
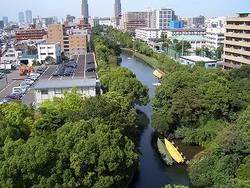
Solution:
<path fill-rule="evenodd" d="M 122 54 L 121 57 L 121 66 L 133 71 L 137 79 L 148 86 L 149 96 L 152 99 L 156 89 L 156 86 L 152 84 L 158 82 L 153 76 L 153 69 L 130 55 Z M 151 103 L 147 106 L 137 106 L 137 108 L 143 111 L 151 120 Z M 140 165 L 131 188 L 161 188 L 166 184 L 190 185 L 185 165 L 166 166 L 162 162 L 157 149 L 154 147 L 153 135 L 154 130 L 149 123 L 141 137 L 139 147 L 141 153 Z"/>

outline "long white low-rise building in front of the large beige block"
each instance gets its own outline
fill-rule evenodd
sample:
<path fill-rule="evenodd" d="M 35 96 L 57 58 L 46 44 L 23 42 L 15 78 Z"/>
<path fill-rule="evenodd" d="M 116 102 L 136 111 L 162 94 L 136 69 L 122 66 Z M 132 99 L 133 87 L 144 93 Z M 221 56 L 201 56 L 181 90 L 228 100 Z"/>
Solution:
<path fill-rule="evenodd" d="M 154 28 L 140 28 L 135 30 L 135 38 L 142 41 L 161 38 L 162 31 Z"/>

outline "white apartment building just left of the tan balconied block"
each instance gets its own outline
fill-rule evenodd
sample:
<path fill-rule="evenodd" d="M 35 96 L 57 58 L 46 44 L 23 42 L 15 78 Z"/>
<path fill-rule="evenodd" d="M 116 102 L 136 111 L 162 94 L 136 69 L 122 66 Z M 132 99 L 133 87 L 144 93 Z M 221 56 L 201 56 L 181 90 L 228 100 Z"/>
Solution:
<path fill-rule="evenodd" d="M 217 49 L 224 44 L 225 28 L 207 28 L 206 30 L 206 47 Z"/>

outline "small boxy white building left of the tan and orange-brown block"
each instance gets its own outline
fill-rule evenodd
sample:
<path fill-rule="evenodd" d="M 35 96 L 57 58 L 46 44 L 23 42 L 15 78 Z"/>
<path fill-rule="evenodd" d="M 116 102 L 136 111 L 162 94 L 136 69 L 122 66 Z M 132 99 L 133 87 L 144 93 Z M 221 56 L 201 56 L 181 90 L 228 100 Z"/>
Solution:
<path fill-rule="evenodd" d="M 37 47 L 38 50 L 38 61 L 40 63 L 45 63 L 46 57 L 50 56 L 55 60 L 55 63 L 61 62 L 61 47 L 60 43 L 47 43 L 39 44 Z"/>

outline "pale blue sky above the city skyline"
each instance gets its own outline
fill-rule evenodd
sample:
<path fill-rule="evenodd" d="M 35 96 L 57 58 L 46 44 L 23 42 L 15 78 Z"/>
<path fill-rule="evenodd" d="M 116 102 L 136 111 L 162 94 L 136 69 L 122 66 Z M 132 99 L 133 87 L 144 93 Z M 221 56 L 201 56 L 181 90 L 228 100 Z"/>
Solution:
<path fill-rule="evenodd" d="M 91 17 L 111 17 L 115 0 L 88 0 Z M 240 11 L 250 11 L 250 0 L 121 0 L 123 11 L 141 11 L 146 8 L 172 8 L 178 16 L 207 17 L 233 16 Z M 0 19 L 8 16 L 17 21 L 18 12 L 32 10 L 33 17 L 67 14 L 80 17 L 81 0 L 0 0 Z"/>

